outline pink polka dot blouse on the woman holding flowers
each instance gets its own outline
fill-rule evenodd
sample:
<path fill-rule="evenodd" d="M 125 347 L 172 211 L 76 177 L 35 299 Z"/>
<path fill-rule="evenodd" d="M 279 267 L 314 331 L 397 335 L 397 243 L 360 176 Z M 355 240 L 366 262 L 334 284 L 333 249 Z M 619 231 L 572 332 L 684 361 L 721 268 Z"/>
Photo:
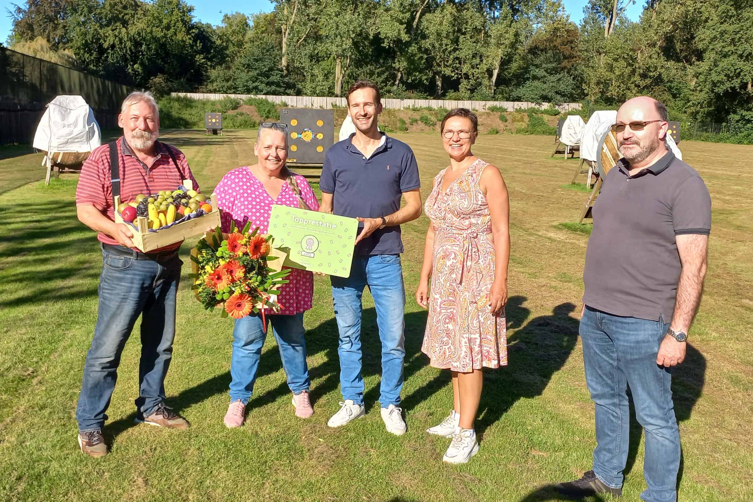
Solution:
<path fill-rule="evenodd" d="M 294 176 L 300 196 L 312 210 L 319 210 L 319 201 L 306 178 Z M 224 232 L 229 232 L 230 222 L 235 221 L 236 228 L 243 228 L 246 222 L 251 222 L 252 230 L 259 227 L 260 232 L 267 233 L 273 204 L 298 207 L 298 197 L 287 182 L 282 185 L 277 200 L 273 200 L 248 167 L 238 167 L 227 173 L 215 187 L 215 194 Z M 290 282 L 280 288 L 278 302 L 283 306 L 280 314 L 294 315 L 311 308 L 314 276 L 297 268 L 292 270 L 287 277 Z"/>

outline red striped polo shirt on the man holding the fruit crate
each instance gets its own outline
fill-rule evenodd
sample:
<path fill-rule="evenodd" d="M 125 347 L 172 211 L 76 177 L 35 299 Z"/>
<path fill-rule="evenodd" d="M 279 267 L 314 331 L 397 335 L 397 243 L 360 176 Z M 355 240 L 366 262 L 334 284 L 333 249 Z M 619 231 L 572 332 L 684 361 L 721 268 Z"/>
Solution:
<path fill-rule="evenodd" d="M 175 161 L 178 162 L 178 166 L 172 163 L 168 148 L 175 157 Z M 191 179 L 194 182 L 194 190 L 199 190 L 199 184 L 194 179 L 191 168 L 188 167 L 185 155 L 174 146 L 157 142 L 157 158 L 154 159 L 151 167 L 147 167 L 136 157 L 125 138 L 120 136 L 117 139 L 117 156 L 122 202 L 130 202 L 138 194 L 148 195 L 156 194 L 161 190 L 175 190 L 184 179 Z M 114 221 L 109 145 L 95 148 L 89 158 L 84 161 L 76 188 L 76 206 L 96 207 L 102 211 L 102 214 Z M 120 245 L 117 240 L 102 232 L 97 235 L 97 240 L 113 246 Z M 180 245 L 181 243 L 171 244 L 154 252 L 177 249 Z"/>

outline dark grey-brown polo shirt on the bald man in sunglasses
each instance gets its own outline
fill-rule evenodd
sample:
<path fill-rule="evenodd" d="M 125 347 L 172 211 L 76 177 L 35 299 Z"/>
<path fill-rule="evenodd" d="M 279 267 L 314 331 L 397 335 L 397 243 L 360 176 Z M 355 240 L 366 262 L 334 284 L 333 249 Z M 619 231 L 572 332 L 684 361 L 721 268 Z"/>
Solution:
<path fill-rule="evenodd" d="M 668 152 L 628 174 L 620 159 L 593 205 L 583 301 L 623 317 L 672 320 L 682 265 L 675 236 L 711 231 L 711 197 L 696 170 Z"/>

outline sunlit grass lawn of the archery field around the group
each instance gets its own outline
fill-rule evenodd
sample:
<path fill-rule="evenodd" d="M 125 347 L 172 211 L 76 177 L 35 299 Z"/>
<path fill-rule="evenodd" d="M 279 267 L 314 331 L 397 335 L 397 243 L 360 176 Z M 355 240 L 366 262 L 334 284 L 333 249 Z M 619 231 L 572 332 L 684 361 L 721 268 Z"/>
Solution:
<path fill-rule="evenodd" d="M 227 170 L 253 163 L 254 134 L 184 130 L 163 139 L 185 152 L 209 193 Z M 447 164 L 441 139 L 395 137 L 416 152 L 425 199 L 431 179 Z M 233 323 L 203 311 L 184 277 L 166 390 L 193 427 L 133 424 L 137 325 L 108 410 L 104 433 L 111 453 L 99 460 L 81 455 L 74 415 L 96 321 L 96 237 L 75 217 L 75 175 L 45 187 L 37 181 L 44 176 L 37 168 L 41 155 L 0 151 L 0 500 L 559 500 L 547 485 L 590 469 L 595 438 L 577 336 L 588 235 L 574 222 L 587 194 L 569 188 L 578 160 L 551 159 L 551 141 L 483 135 L 474 148 L 501 169 L 510 190 L 510 366 L 486 372 L 480 452 L 459 467 L 441 461 L 449 439 L 424 432 L 452 406 L 449 373 L 429 367 L 420 353 L 426 314 L 413 292 L 425 216 L 403 231 L 405 436 L 386 433 L 380 418 L 380 344 L 367 293 L 367 416 L 337 430 L 327 427 L 341 396 L 337 326 L 328 279 L 321 277 L 315 307 L 305 317 L 316 414 L 306 421 L 293 415 L 270 337 L 245 427 L 228 430 L 222 418 Z M 672 384 L 683 445 L 680 500 L 753 500 L 753 148 L 703 142 L 682 142 L 681 148 L 711 191 L 713 230 L 706 294 L 687 360 Z M 188 250 L 181 250 L 184 274 Z M 645 482 L 635 421 L 630 439 L 624 494 L 638 500 Z"/>

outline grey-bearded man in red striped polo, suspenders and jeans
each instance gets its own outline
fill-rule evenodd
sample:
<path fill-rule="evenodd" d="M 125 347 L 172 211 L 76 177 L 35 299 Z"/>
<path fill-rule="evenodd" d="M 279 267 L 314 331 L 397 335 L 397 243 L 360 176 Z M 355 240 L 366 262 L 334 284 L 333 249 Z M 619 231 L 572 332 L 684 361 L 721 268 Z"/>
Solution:
<path fill-rule="evenodd" d="M 107 455 L 102 437 L 117 380 L 120 354 L 139 315 L 141 360 L 136 423 L 186 429 L 188 422 L 165 404 L 165 375 L 175 336 L 175 292 L 180 280 L 178 248 L 171 244 L 152 253 L 133 245 L 132 228 L 114 222 L 113 197 L 130 201 L 138 194 L 175 190 L 184 179 L 198 184 L 185 156 L 157 141 L 160 112 L 148 92 L 131 93 L 118 117 L 123 136 L 96 148 L 84 166 L 76 189 L 78 219 L 98 232 L 102 249 L 99 308 L 91 347 L 84 365 L 84 381 L 76 408 L 78 444 L 93 457 Z M 111 168 L 117 161 L 117 167 Z"/>

